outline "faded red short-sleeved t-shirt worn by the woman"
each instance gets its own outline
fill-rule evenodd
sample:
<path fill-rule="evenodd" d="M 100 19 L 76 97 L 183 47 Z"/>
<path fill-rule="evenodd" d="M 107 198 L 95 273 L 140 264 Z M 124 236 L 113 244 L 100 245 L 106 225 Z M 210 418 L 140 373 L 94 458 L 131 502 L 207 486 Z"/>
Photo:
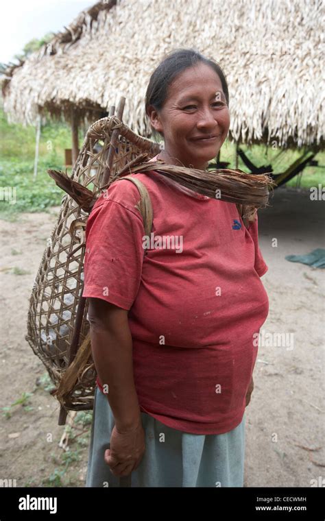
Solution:
<path fill-rule="evenodd" d="M 88 217 L 83 296 L 130 310 L 142 412 L 179 431 L 226 433 L 243 418 L 253 335 L 269 311 L 257 216 L 247 230 L 233 203 L 155 171 L 132 175 L 149 191 L 154 237 L 144 255 L 139 191 L 112 184 Z"/>

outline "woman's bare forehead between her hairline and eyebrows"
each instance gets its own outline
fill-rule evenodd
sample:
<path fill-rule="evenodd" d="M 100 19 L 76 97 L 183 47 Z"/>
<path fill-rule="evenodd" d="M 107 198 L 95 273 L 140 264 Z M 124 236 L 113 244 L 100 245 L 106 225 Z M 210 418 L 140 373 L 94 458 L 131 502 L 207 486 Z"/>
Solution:
<path fill-rule="evenodd" d="M 217 95 L 225 100 L 219 75 L 206 64 L 196 64 L 180 73 L 169 85 L 168 98 L 173 101 L 200 97 L 202 95 Z"/>

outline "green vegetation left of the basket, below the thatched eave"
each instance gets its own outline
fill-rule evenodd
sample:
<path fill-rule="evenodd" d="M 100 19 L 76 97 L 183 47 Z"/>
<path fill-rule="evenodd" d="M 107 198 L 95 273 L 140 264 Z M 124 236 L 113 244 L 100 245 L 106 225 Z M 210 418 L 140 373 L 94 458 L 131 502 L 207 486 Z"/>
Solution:
<path fill-rule="evenodd" d="M 64 149 L 71 146 L 68 126 L 60 122 L 43 126 L 36 178 L 35 128 L 8 123 L 1 110 L 0 136 L 0 187 L 12 187 L 16 193 L 14 204 L 4 201 L 1 193 L 0 218 L 13 220 L 21 212 L 47 211 L 51 206 L 59 206 L 64 192 L 49 178 L 47 169 L 64 170 Z"/>

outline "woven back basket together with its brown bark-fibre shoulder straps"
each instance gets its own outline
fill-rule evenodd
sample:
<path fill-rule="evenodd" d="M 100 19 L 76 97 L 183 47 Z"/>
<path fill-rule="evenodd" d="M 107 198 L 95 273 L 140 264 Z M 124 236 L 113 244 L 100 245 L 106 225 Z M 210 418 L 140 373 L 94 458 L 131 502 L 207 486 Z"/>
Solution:
<path fill-rule="evenodd" d="M 113 139 L 117 133 L 116 141 Z M 95 145 L 101 145 L 94 152 Z M 113 153 L 112 153 L 113 151 Z M 27 321 L 27 341 L 47 367 L 56 385 L 54 396 L 67 410 L 93 408 L 96 371 L 91 356 L 88 302 L 82 297 L 86 221 L 101 192 L 112 182 L 137 182 L 136 208 L 143 216 L 145 233 L 152 229 L 152 207 L 145 186 L 128 174 L 165 175 L 189 189 L 237 204 L 240 213 L 254 219 L 256 208 L 267 206 L 272 179 L 235 170 L 201 171 L 165 163 L 146 162 L 160 145 L 132 132 L 116 116 L 99 119 L 88 129 L 71 177 L 49 170 L 67 191 L 36 276 Z M 112 155 L 111 168 L 107 158 Z M 155 170 L 156 173 L 153 172 Z"/>

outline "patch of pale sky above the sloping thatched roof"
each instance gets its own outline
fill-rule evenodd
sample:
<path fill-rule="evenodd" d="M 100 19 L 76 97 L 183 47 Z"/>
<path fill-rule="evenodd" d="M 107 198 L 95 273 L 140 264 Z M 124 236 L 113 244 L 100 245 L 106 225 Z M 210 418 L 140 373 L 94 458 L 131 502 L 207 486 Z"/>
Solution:
<path fill-rule="evenodd" d="M 0 62 L 14 61 L 33 38 L 60 32 L 96 0 L 15 0 L 1 2 Z"/>

